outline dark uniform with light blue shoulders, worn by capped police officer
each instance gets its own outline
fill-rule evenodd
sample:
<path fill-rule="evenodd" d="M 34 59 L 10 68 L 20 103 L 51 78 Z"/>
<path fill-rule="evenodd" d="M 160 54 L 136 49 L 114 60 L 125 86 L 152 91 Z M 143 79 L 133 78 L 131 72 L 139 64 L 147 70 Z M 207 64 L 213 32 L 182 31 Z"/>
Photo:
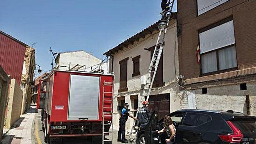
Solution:
<path fill-rule="evenodd" d="M 125 140 L 125 122 L 128 119 L 130 109 L 123 108 L 121 111 L 121 117 L 119 119 L 119 131 L 118 131 L 118 140 L 121 139 L 122 135 L 122 141 Z"/>

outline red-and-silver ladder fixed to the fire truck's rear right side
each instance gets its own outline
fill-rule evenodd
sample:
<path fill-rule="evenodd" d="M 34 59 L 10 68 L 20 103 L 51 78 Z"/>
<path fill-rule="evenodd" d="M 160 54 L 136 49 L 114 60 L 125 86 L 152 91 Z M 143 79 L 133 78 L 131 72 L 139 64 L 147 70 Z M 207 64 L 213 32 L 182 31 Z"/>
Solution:
<path fill-rule="evenodd" d="M 110 91 L 106 91 L 106 88 L 111 89 Z M 103 83 L 103 99 L 102 99 L 102 144 L 105 142 L 112 142 L 113 141 L 113 82 L 106 82 Z M 104 107 L 104 105 L 108 105 L 110 107 Z M 105 118 L 111 117 L 110 123 L 104 123 Z M 105 126 L 111 127 L 111 131 L 104 131 Z M 109 134 L 111 135 L 111 139 L 104 139 L 104 135 Z"/>

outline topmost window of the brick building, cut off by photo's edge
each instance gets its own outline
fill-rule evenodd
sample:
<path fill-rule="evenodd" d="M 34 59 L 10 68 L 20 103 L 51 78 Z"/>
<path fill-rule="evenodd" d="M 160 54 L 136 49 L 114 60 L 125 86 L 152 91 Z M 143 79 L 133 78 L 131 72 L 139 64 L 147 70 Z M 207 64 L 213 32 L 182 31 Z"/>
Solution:
<path fill-rule="evenodd" d="M 198 15 L 202 15 L 203 13 L 225 3 L 229 0 L 197 0 L 197 10 Z"/>

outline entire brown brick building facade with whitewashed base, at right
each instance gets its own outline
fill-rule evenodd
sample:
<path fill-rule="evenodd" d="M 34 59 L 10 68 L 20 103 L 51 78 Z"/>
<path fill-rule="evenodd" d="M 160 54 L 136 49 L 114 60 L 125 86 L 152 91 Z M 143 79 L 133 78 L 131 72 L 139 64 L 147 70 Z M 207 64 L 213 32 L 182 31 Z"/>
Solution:
<path fill-rule="evenodd" d="M 179 0 L 177 8 L 182 108 L 256 115 L 256 1 Z"/>

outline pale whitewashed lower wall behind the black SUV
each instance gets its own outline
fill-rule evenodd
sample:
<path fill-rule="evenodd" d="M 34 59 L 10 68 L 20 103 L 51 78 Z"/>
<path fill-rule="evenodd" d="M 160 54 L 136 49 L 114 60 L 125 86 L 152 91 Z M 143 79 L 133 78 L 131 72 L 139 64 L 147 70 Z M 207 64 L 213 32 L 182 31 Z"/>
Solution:
<path fill-rule="evenodd" d="M 250 114 L 256 115 L 256 82 L 246 83 L 247 90 L 240 90 L 239 84 L 207 88 L 207 94 L 202 89 L 196 89 L 196 109 L 207 110 L 233 110 L 246 113 L 246 95 L 250 97 Z M 181 109 L 188 109 L 187 95 L 193 90 L 184 90 Z"/>

